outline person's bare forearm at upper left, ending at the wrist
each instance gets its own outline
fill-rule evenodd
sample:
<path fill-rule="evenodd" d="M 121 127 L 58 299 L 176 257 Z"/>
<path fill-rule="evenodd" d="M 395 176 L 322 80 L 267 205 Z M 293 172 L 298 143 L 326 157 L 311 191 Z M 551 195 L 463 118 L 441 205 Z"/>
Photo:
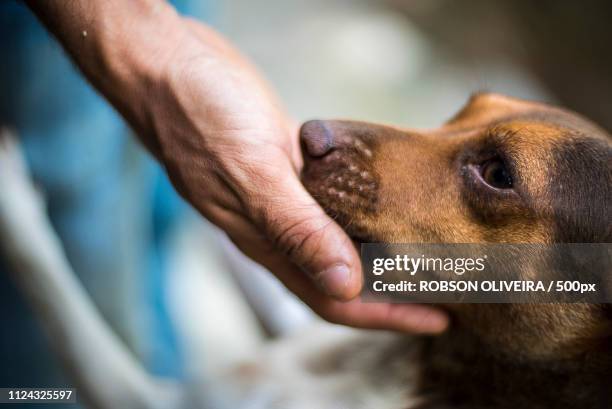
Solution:
<path fill-rule="evenodd" d="M 84 75 L 156 153 L 147 105 L 174 47 L 181 18 L 163 0 L 27 0 Z"/>

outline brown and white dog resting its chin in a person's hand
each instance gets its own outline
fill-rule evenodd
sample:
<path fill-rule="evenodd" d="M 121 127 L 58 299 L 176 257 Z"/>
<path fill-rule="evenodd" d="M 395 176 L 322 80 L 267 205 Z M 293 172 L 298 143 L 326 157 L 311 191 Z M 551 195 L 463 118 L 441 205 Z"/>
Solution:
<path fill-rule="evenodd" d="M 612 138 L 575 113 L 481 93 L 435 130 L 310 121 L 300 138 L 304 185 L 357 245 L 612 242 Z M 36 201 L 24 184 L 10 197 Z M 93 407 L 612 407 L 607 304 L 440 305 L 452 324 L 435 337 L 320 323 L 197 387 L 162 387 L 54 258 L 61 250 L 41 227 L 40 208 L 17 211 L 3 196 L 3 237 L 29 232 L 8 246 L 20 261 L 17 282 Z M 92 365 L 96 356 L 104 364 Z M 100 388 L 100 379 L 112 385 Z"/>

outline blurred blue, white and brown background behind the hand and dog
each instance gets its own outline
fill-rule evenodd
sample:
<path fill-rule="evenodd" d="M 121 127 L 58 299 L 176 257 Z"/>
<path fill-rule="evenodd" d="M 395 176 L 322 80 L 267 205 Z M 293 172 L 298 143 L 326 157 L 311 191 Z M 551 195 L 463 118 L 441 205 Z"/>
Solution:
<path fill-rule="evenodd" d="M 488 90 L 561 104 L 612 129 L 608 2 L 174 4 L 249 56 L 300 121 L 434 127 Z M 152 372 L 176 378 L 248 350 L 235 335 L 262 329 L 232 276 L 256 279 L 262 294 L 284 290 L 177 197 L 18 1 L 0 3 L 0 51 L 0 124 L 20 136 L 68 257 L 120 336 Z M 0 257 L 0 386 L 69 385 L 8 268 Z M 278 300 L 272 310 L 282 314 L 268 330 L 314 319 L 291 297 Z M 212 328 L 226 334 L 223 347 Z"/>

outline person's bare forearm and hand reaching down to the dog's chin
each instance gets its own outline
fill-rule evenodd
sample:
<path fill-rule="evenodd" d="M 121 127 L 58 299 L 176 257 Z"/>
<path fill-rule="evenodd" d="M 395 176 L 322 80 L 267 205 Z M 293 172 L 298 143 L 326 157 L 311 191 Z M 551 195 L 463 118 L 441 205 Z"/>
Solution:
<path fill-rule="evenodd" d="M 180 194 L 321 317 L 443 331 L 422 305 L 361 303 L 359 255 L 306 192 L 298 125 L 220 35 L 162 0 L 30 0 Z"/>

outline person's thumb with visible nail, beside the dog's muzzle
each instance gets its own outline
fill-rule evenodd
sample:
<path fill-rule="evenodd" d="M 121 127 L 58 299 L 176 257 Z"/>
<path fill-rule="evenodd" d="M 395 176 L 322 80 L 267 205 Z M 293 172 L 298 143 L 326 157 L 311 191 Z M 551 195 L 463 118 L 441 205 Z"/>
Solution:
<path fill-rule="evenodd" d="M 277 250 L 328 295 L 348 300 L 362 286 L 361 261 L 351 239 L 319 206 L 293 171 L 278 173 L 251 202 L 258 227 Z"/>

